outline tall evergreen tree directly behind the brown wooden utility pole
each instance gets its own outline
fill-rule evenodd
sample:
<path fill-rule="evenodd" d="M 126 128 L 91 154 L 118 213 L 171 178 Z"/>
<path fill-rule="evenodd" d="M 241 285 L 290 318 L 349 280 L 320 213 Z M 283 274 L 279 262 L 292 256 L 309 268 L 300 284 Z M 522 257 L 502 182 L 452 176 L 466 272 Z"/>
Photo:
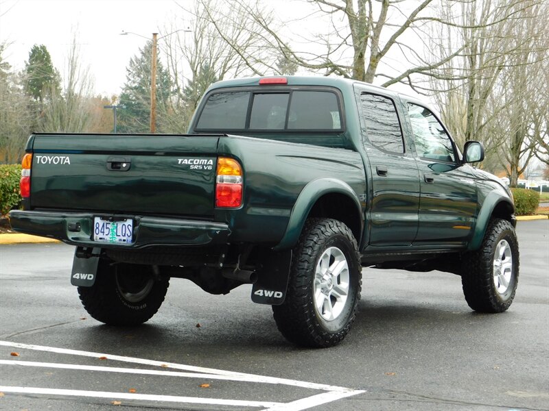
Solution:
<path fill-rule="evenodd" d="M 131 58 L 126 69 L 126 84 L 120 94 L 118 132 L 150 132 L 150 63 L 152 42 L 149 41 L 139 54 Z M 167 112 L 172 95 L 170 75 L 164 69 L 157 54 L 156 61 L 156 131 L 163 132 L 163 116 Z"/>

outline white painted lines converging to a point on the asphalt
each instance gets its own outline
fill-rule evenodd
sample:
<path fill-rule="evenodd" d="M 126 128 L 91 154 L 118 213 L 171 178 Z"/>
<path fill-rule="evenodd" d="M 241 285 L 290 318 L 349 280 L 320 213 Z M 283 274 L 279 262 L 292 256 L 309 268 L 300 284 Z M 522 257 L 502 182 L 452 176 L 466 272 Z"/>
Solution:
<path fill-rule="evenodd" d="M 325 403 L 337 401 L 351 397 L 353 395 L 362 394 L 364 390 L 354 390 L 353 388 L 344 388 L 340 386 L 330 386 L 327 384 L 316 384 L 312 382 L 304 382 L 296 379 L 286 379 L 277 377 L 267 377 L 264 375 L 235 373 L 233 371 L 218 370 L 205 368 L 200 366 L 191 366 L 186 364 L 176 364 L 174 362 L 161 362 L 156 360 L 147 360 L 145 358 L 135 358 L 126 356 L 114 356 L 106 353 L 95 353 L 91 351 L 80 351 L 74 349 L 64 349 L 57 347 L 45 347 L 42 345 L 10 343 L 9 341 L 0 341 L 0 346 L 16 347 L 21 349 L 31 349 L 35 351 L 45 351 L 51 353 L 67 354 L 72 356 L 84 356 L 91 358 L 107 358 L 108 360 L 129 362 L 133 364 L 162 366 L 165 368 L 179 369 L 183 371 L 159 371 L 159 370 L 144 370 L 144 369 L 128 369 L 121 367 L 110 366 L 88 366 L 80 364 L 65 364 L 54 362 L 32 362 L 20 360 L 0 360 L 3 365 L 19 365 L 19 366 L 36 366 L 48 367 L 55 369 L 73 369 L 81 371 L 99 371 L 110 373 L 132 373 L 132 374 L 148 374 L 148 375 L 164 375 L 187 378 L 210 378 L 224 379 L 234 382 L 253 382 L 262 384 L 280 384 L 300 388 L 309 388 L 313 390 L 323 390 L 325 393 L 312 395 L 296 401 L 288 403 L 270 402 L 270 401 L 246 401 L 233 399 L 207 399 L 202 397 L 178 397 L 173 395 L 152 395 L 152 394 L 137 394 L 137 393 L 110 393 L 105 391 L 87 391 L 87 390 L 67 390 L 56 388 L 36 388 L 36 387 L 20 387 L 20 386 L 0 386 L 0 391 L 4 393 L 23 393 L 23 394 L 45 394 L 45 395 L 65 395 L 75 397 L 99 397 L 108 399 L 141 399 L 146 401 L 166 401 L 179 403 L 202 403 L 208 405 L 224 405 L 237 407 L 266 407 L 264 411 L 301 411 L 314 406 L 320 406 Z"/>

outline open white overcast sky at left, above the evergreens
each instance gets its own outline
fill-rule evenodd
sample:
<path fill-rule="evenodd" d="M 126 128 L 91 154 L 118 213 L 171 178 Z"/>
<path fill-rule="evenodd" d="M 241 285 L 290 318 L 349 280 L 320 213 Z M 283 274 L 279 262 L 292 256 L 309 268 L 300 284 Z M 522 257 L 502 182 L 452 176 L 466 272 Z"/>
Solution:
<path fill-rule="evenodd" d="M 13 69 L 24 69 L 33 45 L 45 45 L 62 72 L 73 33 L 80 55 L 95 78 L 95 94 L 118 94 L 126 81 L 126 66 L 153 32 L 190 0 L 0 0 L 0 42 L 8 42 L 3 57 Z M 121 32 L 130 32 L 121 36 Z M 142 36 L 142 37 L 141 37 Z"/>

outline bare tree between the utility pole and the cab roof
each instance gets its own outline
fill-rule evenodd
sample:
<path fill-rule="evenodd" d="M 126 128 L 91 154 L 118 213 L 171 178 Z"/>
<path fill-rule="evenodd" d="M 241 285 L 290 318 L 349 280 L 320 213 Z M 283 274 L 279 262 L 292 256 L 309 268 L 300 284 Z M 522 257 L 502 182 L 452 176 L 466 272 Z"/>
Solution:
<path fill-rule="evenodd" d="M 261 55 L 258 47 L 261 40 L 244 25 L 235 23 L 240 12 L 235 4 L 197 0 L 193 8 L 180 5 L 180 10 L 180 16 L 165 27 L 162 39 L 174 86 L 164 127 L 176 132 L 186 129 L 200 97 L 211 83 L 228 75 L 238 77 L 253 72 L 243 58 L 244 51 Z M 224 13 L 231 16 L 231 21 Z M 228 39 L 238 43 L 238 49 L 231 47 Z"/>

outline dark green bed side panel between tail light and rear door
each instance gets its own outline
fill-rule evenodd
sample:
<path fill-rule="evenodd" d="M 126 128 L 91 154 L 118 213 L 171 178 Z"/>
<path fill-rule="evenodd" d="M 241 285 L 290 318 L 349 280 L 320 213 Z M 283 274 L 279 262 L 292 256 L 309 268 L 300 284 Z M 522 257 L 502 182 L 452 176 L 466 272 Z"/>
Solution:
<path fill-rule="evenodd" d="M 366 192 L 364 166 L 355 151 L 228 136 L 220 139 L 218 153 L 244 164 L 243 206 L 215 212 L 215 221 L 231 227 L 231 242 L 276 245 L 299 194 L 315 179 L 341 180 L 357 196 Z"/>

